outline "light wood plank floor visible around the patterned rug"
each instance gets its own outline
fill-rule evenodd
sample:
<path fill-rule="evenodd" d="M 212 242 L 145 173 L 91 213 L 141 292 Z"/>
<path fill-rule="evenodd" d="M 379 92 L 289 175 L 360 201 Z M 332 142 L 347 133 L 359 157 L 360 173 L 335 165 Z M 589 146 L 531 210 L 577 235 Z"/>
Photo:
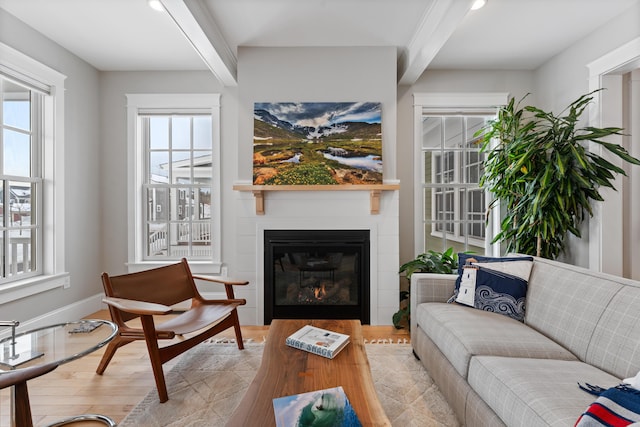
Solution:
<path fill-rule="evenodd" d="M 107 310 L 94 313 L 87 318 L 109 319 Z M 243 326 L 244 339 L 262 341 L 268 326 Z M 393 326 L 363 326 L 366 340 L 400 339 L 409 342 L 406 329 Z M 229 330 L 216 337 L 233 337 Z M 134 342 L 118 350 L 104 375 L 95 369 L 104 350 L 98 350 L 81 359 L 60 365 L 55 371 L 28 383 L 34 425 L 46 426 L 60 419 L 85 413 L 96 413 L 120 422 L 155 388 L 151 365 L 144 342 Z M 179 357 L 164 365 L 165 372 Z M 0 426 L 9 425 L 8 390 L 0 393 Z M 169 390 L 171 398 L 171 390 Z M 103 425 L 95 422 L 76 423 L 74 426 Z"/>

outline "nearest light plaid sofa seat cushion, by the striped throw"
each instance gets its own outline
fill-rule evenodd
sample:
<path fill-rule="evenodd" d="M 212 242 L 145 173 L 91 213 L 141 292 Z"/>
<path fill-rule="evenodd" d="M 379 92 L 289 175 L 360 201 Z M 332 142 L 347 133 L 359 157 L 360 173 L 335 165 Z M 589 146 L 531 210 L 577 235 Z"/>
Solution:
<path fill-rule="evenodd" d="M 478 356 L 469 366 L 471 388 L 512 427 L 573 426 L 594 400 L 578 382 L 620 379 L 579 361 Z"/>

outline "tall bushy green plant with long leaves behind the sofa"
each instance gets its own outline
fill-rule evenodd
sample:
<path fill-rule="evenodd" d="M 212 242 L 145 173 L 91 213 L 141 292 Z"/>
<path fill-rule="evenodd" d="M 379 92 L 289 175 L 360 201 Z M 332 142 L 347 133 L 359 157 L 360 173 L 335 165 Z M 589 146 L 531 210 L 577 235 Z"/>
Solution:
<path fill-rule="evenodd" d="M 579 126 L 595 92 L 582 95 L 559 115 L 533 106 L 520 108 L 522 100 L 516 105 L 512 98 L 476 134 L 488 153 L 480 185 L 495 196 L 490 209 L 504 207 L 493 242 L 505 242 L 506 252 L 554 259 L 564 251 L 568 233 L 581 236 L 586 214 L 593 216 L 591 202 L 603 200 L 600 187 L 614 188 L 615 175 L 625 175 L 585 143 L 640 164 L 620 145 L 603 140 L 623 135 L 623 129 Z"/>

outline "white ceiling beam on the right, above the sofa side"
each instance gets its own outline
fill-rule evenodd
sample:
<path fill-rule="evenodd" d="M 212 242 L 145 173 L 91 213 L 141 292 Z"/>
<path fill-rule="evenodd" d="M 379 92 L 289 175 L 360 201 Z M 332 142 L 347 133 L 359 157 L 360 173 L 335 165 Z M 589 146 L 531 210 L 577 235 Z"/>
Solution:
<path fill-rule="evenodd" d="M 398 59 L 398 84 L 412 85 L 427 69 L 456 27 L 471 9 L 473 0 L 434 0 L 422 17 L 407 48 Z"/>

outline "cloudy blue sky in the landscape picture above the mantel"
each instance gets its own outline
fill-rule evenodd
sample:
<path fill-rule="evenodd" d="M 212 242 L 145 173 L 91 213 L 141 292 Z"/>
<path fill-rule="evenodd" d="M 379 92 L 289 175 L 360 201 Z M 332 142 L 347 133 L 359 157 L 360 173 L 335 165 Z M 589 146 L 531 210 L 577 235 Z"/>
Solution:
<path fill-rule="evenodd" d="M 298 126 L 332 126 L 342 122 L 380 123 L 379 102 L 256 102 L 280 120 Z"/>

